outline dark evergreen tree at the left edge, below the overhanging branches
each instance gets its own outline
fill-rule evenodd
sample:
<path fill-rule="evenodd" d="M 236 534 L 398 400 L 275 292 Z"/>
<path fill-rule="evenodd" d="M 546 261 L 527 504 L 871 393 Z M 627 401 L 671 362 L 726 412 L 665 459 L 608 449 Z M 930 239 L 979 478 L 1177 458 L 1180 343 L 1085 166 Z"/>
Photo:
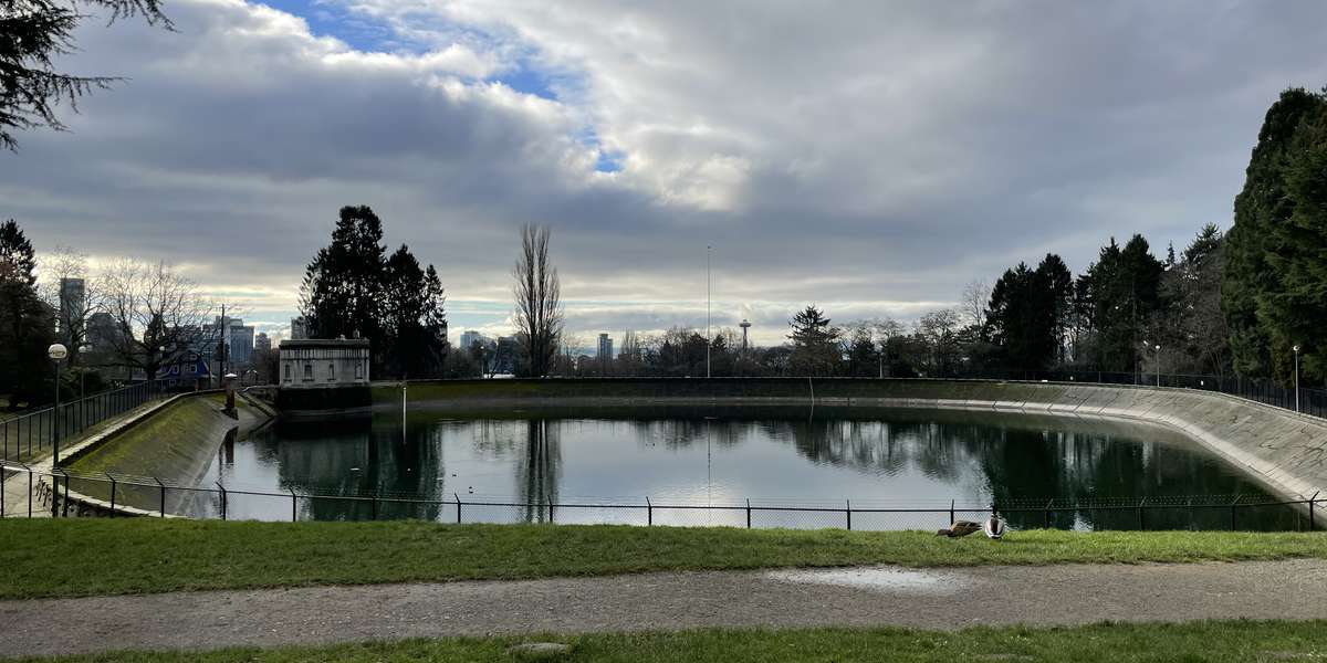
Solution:
<path fill-rule="evenodd" d="M 37 297 L 32 243 L 11 219 L 0 224 L 0 394 L 9 406 L 50 398 L 54 316 Z"/>

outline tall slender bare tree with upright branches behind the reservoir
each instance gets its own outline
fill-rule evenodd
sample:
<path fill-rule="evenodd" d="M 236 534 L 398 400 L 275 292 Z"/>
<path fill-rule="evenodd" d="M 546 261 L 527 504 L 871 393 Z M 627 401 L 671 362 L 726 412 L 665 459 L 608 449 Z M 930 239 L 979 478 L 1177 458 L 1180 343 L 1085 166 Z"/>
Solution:
<path fill-rule="evenodd" d="M 531 377 L 548 375 L 557 355 L 563 333 L 561 289 L 557 268 L 548 261 L 549 231 L 545 225 L 523 225 L 516 277 L 516 335 L 525 350 Z"/>

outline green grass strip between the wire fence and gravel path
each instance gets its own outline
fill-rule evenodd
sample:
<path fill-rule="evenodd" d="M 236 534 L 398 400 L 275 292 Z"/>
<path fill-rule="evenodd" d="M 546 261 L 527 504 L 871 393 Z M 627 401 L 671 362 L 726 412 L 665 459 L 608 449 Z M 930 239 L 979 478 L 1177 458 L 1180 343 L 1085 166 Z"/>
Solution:
<path fill-rule="evenodd" d="M 897 564 L 1327 558 L 1323 533 L 744 530 L 429 522 L 0 521 L 0 598 Z"/>

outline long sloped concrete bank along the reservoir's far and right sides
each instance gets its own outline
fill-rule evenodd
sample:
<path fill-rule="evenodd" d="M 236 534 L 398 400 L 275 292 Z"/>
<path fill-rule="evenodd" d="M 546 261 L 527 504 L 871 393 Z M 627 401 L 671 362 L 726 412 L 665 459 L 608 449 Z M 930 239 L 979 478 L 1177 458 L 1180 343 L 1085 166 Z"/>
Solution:
<path fill-rule="evenodd" d="M 1213 391 L 1072 382 L 853 378 L 602 378 L 410 382 L 411 407 L 633 407 L 665 403 L 824 404 L 1031 412 L 1144 422 L 1178 432 L 1287 499 L 1327 489 L 1327 422 Z M 374 385 L 380 408 L 399 383 Z"/>

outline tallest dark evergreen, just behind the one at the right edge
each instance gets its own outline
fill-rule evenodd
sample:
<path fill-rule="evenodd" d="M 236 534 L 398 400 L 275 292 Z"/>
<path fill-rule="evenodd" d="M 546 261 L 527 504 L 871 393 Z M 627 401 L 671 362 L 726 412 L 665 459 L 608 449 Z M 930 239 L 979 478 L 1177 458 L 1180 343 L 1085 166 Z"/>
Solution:
<path fill-rule="evenodd" d="M 1235 196 L 1235 220 L 1226 235 L 1225 276 L 1221 308 L 1230 326 L 1230 350 L 1237 373 L 1270 375 L 1271 334 L 1259 320 L 1259 300 L 1278 284 L 1267 263 L 1267 243 L 1285 241 L 1283 227 L 1295 212 L 1295 198 L 1286 191 L 1286 170 L 1292 143 L 1306 118 L 1320 113 L 1323 95 L 1290 89 L 1267 109 L 1258 145 L 1245 171 L 1243 190 Z M 1285 247 L 1277 247 L 1285 248 Z M 1275 317 L 1274 309 L 1265 313 Z M 1285 341 L 1283 341 L 1285 342 Z"/>

